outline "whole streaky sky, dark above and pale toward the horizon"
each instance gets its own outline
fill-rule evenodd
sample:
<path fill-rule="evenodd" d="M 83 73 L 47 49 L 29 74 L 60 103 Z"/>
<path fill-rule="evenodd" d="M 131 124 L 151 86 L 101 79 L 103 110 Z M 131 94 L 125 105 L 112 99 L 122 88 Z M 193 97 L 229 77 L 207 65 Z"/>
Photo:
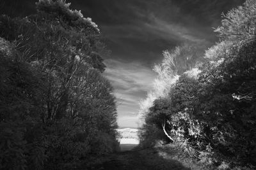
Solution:
<path fill-rule="evenodd" d="M 19 2 L 19 3 L 17 3 Z M 26 15 L 34 0 L 0 0 L 9 12 Z M 71 8 L 81 10 L 100 29 L 111 50 L 104 57 L 104 75 L 111 81 L 118 101 L 118 125 L 139 127 L 140 101 L 152 89 L 162 52 L 183 43 L 207 47 L 218 37 L 213 28 L 221 24 L 221 13 L 244 0 L 71 0 Z M 15 6 L 16 10 L 13 10 Z M 0 10 L 1 9 L 0 7 Z"/>

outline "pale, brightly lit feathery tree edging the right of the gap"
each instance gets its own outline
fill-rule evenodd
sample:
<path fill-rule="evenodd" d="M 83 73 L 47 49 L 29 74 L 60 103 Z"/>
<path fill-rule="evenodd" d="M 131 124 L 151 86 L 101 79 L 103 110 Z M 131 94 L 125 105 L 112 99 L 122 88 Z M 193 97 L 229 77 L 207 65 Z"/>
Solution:
<path fill-rule="evenodd" d="M 156 64 L 153 69 L 157 73 L 154 89 L 148 92 L 147 99 L 141 101 L 140 113 L 147 114 L 155 99 L 168 96 L 168 91 L 179 78 L 179 74 L 192 69 L 205 60 L 202 56 L 202 48 L 188 43 L 177 46 L 171 51 L 164 50 L 163 61 L 161 64 Z"/>

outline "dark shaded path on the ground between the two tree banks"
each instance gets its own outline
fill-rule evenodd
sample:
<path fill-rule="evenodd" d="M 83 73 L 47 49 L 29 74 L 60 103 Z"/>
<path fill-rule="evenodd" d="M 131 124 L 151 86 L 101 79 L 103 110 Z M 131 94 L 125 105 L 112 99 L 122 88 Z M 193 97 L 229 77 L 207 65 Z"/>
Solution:
<path fill-rule="evenodd" d="M 108 156 L 103 164 L 95 169 L 189 169 L 173 159 L 164 159 L 157 148 L 119 152 Z"/>

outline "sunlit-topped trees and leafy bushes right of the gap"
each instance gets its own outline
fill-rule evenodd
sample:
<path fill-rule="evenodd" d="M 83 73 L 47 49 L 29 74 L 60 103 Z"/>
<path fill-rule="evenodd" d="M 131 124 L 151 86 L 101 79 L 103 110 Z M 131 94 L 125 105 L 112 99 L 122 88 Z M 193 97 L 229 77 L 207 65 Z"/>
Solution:
<path fill-rule="evenodd" d="M 163 53 L 155 89 L 141 104 L 141 145 L 161 139 L 212 164 L 256 164 L 255 21 L 256 2 L 247 0 L 223 15 L 220 41 L 197 61 L 189 45 Z"/>

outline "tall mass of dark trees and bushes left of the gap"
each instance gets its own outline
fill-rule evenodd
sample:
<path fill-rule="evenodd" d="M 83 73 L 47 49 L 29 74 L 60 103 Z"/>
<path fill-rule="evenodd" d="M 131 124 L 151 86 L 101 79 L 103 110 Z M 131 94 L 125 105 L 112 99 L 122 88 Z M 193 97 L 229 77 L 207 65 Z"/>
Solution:
<path fill-rule="evenodd" d="M 91 18 L 40 0 L 0 17 L 0 169 L 86 169 L 118 149 L 108 53 Z"/>

